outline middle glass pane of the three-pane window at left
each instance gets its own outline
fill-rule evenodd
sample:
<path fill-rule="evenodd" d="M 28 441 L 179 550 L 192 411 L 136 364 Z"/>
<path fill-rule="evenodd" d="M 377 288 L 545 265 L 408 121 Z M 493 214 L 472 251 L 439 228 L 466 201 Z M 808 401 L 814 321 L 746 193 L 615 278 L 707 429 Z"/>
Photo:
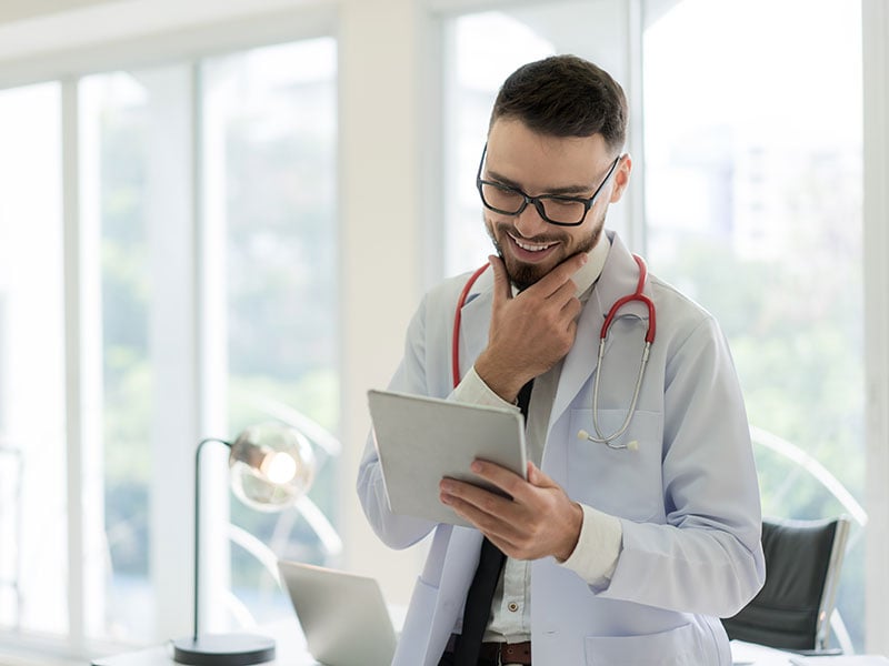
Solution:
<path fill-rule="evenodd" d="M 96 74 L 79 85 L 84 292 L 94 302 L 82 315 L 90 341 L 83 363 L 100 369 L 83 389 L 98 440 L 86 451 L 93 473 L 84 492 L 94 501 L 83 511 L 103 528 L 98 552 L 88 546 L 83 558 L 89 637 L 157 639 L 152 571 L 162 563 L 152 561 L 152 494 L 190 496 L 190 488 L 158 487 L 169 474 L 156 468 L 170 445 L 162 428 L 189 432 L 179 415 L 191 398 L 179 398 L 190 376 L 188 337 L 179 332 L 190 312 L 178 306 L 189 293 L 179 268 L 191 235 L 181 194 L 190 175 L 181 132 L 189 100 L 184 67 Z"/>

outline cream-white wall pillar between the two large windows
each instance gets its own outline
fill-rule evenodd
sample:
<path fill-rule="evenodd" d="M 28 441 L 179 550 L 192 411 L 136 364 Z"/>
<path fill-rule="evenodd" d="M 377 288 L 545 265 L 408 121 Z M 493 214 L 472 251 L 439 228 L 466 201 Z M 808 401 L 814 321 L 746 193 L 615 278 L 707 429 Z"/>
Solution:
<path fill-rule="evenodd" d="M 393 553 L 372 534 L 354 492 L 370 426 L 366 392 L 384 387 L 420 299 L 420 145 L 414 90 L 422 40 L 413 0 L 340 6 L 343 458 L 340 506 L 348 567 L 378 576 L 406 604 L 421 549 Z"/>

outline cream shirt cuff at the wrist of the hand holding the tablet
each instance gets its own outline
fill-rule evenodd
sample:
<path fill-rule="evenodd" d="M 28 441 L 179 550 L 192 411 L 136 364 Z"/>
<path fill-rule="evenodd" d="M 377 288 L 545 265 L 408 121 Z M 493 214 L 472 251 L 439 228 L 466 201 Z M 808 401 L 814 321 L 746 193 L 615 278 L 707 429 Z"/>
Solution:
<path fill-rule="evenodd" d="M 573 553 L 562 566 L 571 569 L 589 585 L 607 585 L 615 575 L 623 541 L 620 521 L 591 506 L 581 504 L 583 523 Z"/>

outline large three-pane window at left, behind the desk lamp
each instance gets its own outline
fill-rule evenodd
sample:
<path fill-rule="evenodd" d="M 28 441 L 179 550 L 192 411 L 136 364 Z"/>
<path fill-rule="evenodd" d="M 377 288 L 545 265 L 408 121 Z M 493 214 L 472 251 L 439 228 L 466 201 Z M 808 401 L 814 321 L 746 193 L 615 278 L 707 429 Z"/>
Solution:
<path fill-rule="evenodd" d="M 202 629 L 289 616 L 269 563 L 339 554 L 336 56 L 319 38 L 102 72 L 69 107 L 59 83 L 0 91 L 0 630 L 149 644 L 190 627 L 194 451 L 259 421 L 309 428 L 319 473 L 299 508 L 229 506 L 220 446 Z"/>

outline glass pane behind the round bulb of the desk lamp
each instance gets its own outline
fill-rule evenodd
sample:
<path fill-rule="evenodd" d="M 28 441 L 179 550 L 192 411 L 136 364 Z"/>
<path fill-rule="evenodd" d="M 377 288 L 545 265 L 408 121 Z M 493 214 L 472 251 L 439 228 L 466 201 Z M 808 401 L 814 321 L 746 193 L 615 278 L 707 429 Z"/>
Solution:
<path fill-rule="evenodd" d="M 202 68 L 206 224 L 227 283 L 224 314 L 209 329 L 227 339 L 230 436 L 274 418 L 338 428 L 336 75 L 328 38 Z M 313 444 L 320 470 L 310 497 L 334 521 L 336 451 Z M 270 554 L 323 563 L 339 548 L 294 508 L 266 514 L 234 501 L 231 519 L 234 616 L 291 613 Z M 239 538 L 237 528 L 259 543 Z"/>

